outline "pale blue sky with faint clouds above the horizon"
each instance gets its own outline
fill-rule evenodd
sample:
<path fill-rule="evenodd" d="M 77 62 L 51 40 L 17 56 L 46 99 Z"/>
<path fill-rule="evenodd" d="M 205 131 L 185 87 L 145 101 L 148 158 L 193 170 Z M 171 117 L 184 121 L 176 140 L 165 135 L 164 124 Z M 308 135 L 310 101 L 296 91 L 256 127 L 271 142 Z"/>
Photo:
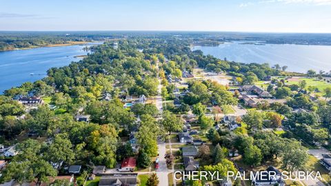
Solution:
<path fill-rule="evenodd" d="M 331 0 L 0 0 L 0 30 L 331 32 Z"/>

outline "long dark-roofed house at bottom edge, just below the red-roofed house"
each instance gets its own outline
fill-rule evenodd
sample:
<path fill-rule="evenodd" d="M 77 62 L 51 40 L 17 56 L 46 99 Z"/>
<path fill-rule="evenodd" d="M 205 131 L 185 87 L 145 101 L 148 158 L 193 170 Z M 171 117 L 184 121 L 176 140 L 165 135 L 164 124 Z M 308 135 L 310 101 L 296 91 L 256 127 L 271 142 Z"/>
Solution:
<path fill-rule="evenodd" d="M 136 186 L 138 174 L 113 174 L 101 176 L 99 186 Z"/>

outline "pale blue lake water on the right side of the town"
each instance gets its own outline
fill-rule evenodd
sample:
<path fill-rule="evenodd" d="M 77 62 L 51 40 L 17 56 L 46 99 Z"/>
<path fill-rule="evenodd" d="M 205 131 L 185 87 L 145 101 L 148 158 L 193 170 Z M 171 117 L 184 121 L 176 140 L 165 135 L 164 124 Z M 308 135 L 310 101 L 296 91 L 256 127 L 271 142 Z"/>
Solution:
<path fill-rule="evenodd" d="M 328 45 L 278 45 L 242 44 L 241 41 L 224 43 L 219 46 L 194 46 L 219 59 L 241 63 L 269 63 L 288 66 L 288 71 L 307 72 L 308 70 L 331 70 L 331 46 Z"/>

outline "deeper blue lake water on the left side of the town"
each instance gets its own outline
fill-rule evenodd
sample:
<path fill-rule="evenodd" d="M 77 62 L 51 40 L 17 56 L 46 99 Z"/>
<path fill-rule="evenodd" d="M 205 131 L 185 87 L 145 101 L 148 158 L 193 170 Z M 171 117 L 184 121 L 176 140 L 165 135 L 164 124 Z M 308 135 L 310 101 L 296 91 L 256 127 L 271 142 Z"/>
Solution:
<path fill-rule="evenodd" d="M 10 87 L 42 79 L 52 67 L 81 60 L 74 56 L 88 54 L 83 48 L 92 44 L 96 43 L 0 52 L 0 94 Z"/>

